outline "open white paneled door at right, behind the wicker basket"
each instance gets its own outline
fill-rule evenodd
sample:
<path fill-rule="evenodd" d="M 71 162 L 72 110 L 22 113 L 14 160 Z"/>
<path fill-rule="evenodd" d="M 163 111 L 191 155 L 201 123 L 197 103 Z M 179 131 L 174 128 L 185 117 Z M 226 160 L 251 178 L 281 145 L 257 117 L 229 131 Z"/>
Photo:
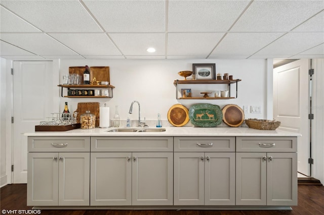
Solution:
<path fill-rule="evenodd" d="M 273 117 L 280 129 L 301 133 L 298 139 L 298 172 L 309 175 L 309 60 L 273 70 Z"/>

